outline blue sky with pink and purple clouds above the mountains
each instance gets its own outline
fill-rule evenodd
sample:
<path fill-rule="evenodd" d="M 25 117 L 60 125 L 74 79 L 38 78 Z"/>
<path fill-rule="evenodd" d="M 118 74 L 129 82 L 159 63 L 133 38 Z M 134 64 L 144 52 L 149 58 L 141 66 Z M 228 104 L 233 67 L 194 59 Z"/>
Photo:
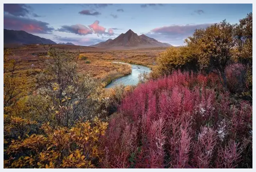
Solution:
<path fill-rule="evenodd" d="M 179 46 L 197 28 L 235 24 L 250 12 L 252 4 L 4 4 L 4 28 L 84 46 L 132 29 Z"/>

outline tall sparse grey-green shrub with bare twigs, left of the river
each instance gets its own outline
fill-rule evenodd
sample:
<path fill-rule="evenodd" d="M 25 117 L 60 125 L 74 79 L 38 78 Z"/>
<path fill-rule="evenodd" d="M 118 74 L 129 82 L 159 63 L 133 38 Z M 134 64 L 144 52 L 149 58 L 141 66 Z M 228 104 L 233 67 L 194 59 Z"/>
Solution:
<path fill-rule="evenodd" d="M 67 52 L 50 50 L 53 62 L 36 75 L 37 90 L 30 95 L 30 113 L 40 122 L 52 126 L 73 126 L 77 120 L 101 116 L 101 95 L 104 85 L 86 74 L 77 72 L 76 57 Z"/>

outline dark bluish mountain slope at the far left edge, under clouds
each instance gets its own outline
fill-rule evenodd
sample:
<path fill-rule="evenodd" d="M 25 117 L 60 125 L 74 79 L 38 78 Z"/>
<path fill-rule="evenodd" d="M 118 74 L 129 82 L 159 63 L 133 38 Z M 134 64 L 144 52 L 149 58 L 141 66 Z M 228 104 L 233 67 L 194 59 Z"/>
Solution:
<path fill-rule="evenodd" d="M 32 35 L 23 30 L 4 29 L 4 44 L 56 44 L 50 39 Z"/>

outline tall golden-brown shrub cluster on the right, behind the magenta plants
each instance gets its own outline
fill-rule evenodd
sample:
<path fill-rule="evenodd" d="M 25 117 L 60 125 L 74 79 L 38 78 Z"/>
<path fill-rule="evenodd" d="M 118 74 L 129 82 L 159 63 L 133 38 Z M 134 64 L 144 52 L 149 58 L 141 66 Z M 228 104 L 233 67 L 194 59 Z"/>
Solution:
<path fill-rule="evenodd" d="M 252 13 L 239 24 L 224 20 L 205 29 L 196 29 L 185 39 L 185 44 L 161 53 L 151 77 L 168 75 L 176 69 L 215 73 L 226 91 L 231 89 L 232 93 L 252 101 Z M 231 79 L 231 72 L 239 74 L 240 78 Z M 239 87 L 236 89 L 234 84 Z"/>

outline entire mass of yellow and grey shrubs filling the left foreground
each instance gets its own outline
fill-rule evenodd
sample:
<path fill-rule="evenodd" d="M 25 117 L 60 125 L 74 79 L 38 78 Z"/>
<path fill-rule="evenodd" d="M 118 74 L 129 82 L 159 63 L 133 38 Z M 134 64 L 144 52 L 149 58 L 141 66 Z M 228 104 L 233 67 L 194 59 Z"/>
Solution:
<path fill-rule="evenodd" d="M 32 78 L 35 85 L 4 58 L 4 167 L 97 167 L 107 127 L 105 85 L 79 74 L 72 54 L 48 53 L 53 60 Z"/>

